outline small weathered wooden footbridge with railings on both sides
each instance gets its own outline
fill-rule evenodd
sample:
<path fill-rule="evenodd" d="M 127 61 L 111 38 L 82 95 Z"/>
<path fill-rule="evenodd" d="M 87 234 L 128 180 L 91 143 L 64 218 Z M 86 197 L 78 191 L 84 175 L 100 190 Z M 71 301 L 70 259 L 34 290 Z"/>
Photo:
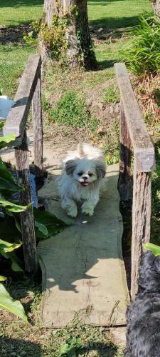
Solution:
<path fill-rule="evenodd" d="M 155 169 L 154 146 L 146 130 L 124 64 L 115 64 L 121 92 L 120 165 L 107 171 L 106 189 L 95 215 L 81 214 L 73 224 L 36 248 L 33 209 L 21 213 L 23 251 L 26 271 L 34 271 L 37 258 L 43 273 L 43 323 L 52 328 L 64 326 L 75 313 L 94 326 L 122 325 L 129 292 L 122 258 L 122 217 L 119 198 L 133 199 L 132 208 L 132 288 L 137 292 L 142 243 L 149 242 L 151 218 L 151 171 Z M 33 103 L 34 164 L 43 174 L 41 116 L 41 58 L 30 56 L 11 109 L 4 135 L 15 133 L 18 179 L 26 190 L 21 203 L 31 202 L 26 122 Z M 131 154 L 134 153 L 134 173 Z M 58 161 L 51 162 L 48 181 L 39 192 L 47 209 L 69 219 L 60 208 L 55 178 L 60 174 Z M 119 193 L 117 191 L 119 188 Z"/>

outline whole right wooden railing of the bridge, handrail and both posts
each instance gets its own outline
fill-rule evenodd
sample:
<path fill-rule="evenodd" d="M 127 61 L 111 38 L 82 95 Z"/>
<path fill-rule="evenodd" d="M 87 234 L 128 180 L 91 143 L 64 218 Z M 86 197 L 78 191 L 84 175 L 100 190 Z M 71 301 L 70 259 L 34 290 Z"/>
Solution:
<path fill-rule="evenodd" d="M 151 171 L 154 171 L 154 146 L 142 119 L 125 64 L 114 64 L 120 89 L 120 169 L 119 195 L 122 201 L 132 198 L 132 273 L 131 296 L 137 293 L 137 277 L 143 243 L 150 238 Z M 131 148 L 134 151 L 133 189 Z"/>

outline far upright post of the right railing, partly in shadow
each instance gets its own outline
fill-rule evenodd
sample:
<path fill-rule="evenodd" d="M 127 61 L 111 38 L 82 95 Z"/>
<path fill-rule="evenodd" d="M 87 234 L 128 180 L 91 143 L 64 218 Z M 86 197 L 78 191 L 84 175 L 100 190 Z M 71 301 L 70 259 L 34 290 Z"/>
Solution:
<path fill-rule="evenodd" d="M 119 196 L 122 201 L 129 201 L 132 199 L 131 139 L 127 130 L 122 103 L 120 106 L 119 159 Z"/>

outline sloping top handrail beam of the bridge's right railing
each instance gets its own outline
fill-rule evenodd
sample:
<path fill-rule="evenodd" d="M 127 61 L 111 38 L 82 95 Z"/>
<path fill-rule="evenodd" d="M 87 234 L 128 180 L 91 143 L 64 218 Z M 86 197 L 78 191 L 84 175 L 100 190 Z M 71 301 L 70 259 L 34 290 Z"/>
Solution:
<path fill-rule="evenodd" d="M 142 113 L 134 96 L 134 91 L 125 64 L 114 64 L 117 81 L 121 92 L 124 115 L 129 130 L 129 136 L 134 148 L 134 169 L 139 172 L 154 171 L 155 154 Z"/>

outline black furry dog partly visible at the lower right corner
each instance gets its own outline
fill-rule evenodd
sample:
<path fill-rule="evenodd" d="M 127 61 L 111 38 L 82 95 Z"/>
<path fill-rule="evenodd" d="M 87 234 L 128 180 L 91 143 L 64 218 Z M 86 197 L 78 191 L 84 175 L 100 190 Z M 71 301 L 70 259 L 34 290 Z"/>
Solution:
<path fill-rule="evenodd" d="M 160 256 L 142 256 L 135 301 L 127 311 L 125 357 L 160 356 Z"/>

